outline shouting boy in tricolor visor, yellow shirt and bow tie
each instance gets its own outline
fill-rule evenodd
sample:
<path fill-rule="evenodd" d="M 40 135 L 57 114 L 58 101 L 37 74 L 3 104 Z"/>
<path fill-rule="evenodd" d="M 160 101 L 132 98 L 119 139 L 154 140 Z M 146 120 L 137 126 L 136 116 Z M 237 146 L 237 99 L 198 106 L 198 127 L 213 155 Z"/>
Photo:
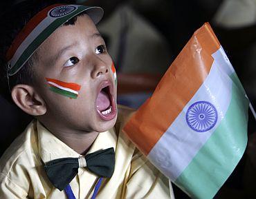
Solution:
<path fill-rule="evenodd" d="M 0 198 L 170 198 L 122 133 L 131 110 L 116 105 L 94 24 L 102 10 L 56 3 L 19 1 L 3 14 L 2 93 L 35 121 L 1 157 Z"/>

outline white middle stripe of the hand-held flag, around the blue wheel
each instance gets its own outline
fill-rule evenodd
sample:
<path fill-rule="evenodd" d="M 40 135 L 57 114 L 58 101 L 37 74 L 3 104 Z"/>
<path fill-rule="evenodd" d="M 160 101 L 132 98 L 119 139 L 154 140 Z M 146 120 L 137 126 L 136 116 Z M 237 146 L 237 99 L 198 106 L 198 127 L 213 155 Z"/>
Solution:
<path fill-rule="evenodd" d="M 149 160 L 171 180 L 176 180 L 188 166 L 218 127 L 230 104 L 232 80 L 226 73 L 229 67 L 221 60 L 221 53 L 220 49 L 212 54 L 214 63 L 205 82 L 148 154 Z M 208 101 L 217 109 L 218 121 L 208 132 L 195 132 L 187 124 L 186 112 L 197 101 Z"/>

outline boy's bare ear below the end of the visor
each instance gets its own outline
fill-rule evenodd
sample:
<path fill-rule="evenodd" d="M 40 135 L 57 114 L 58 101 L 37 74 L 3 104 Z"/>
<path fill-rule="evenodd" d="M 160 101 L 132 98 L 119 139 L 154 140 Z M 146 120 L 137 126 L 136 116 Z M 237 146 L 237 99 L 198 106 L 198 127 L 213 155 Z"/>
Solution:
<path fill-rule="evenodd" d="M 32 116 L 42 116 L 46 113 L 44 99 L 30 85 L 19 84 L 12 88 L 12 100 L 24 112 Z"/>

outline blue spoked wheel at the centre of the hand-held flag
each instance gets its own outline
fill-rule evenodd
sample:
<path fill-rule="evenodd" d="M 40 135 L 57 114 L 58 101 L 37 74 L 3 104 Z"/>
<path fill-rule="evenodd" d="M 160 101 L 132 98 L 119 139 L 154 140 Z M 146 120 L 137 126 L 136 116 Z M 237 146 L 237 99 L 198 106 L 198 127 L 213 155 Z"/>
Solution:
<path fill-rule="evenodd" d="M 186 121 L 188 126 L 196 132 L 207 132 L 218 120 L 217 109 L 207 101 L 198 101 L 188 108 Z"/>

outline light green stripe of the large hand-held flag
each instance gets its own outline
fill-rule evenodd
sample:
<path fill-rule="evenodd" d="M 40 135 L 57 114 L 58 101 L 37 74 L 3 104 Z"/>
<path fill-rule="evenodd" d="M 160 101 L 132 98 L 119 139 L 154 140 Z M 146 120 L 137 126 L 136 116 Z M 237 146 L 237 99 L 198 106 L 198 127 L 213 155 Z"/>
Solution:
<path fill-rule="evenodd" d="M 248 99 L 236 81 L 225 118 L 174 182 L 192 198 L 213 198 L 246 149 Z"/>

